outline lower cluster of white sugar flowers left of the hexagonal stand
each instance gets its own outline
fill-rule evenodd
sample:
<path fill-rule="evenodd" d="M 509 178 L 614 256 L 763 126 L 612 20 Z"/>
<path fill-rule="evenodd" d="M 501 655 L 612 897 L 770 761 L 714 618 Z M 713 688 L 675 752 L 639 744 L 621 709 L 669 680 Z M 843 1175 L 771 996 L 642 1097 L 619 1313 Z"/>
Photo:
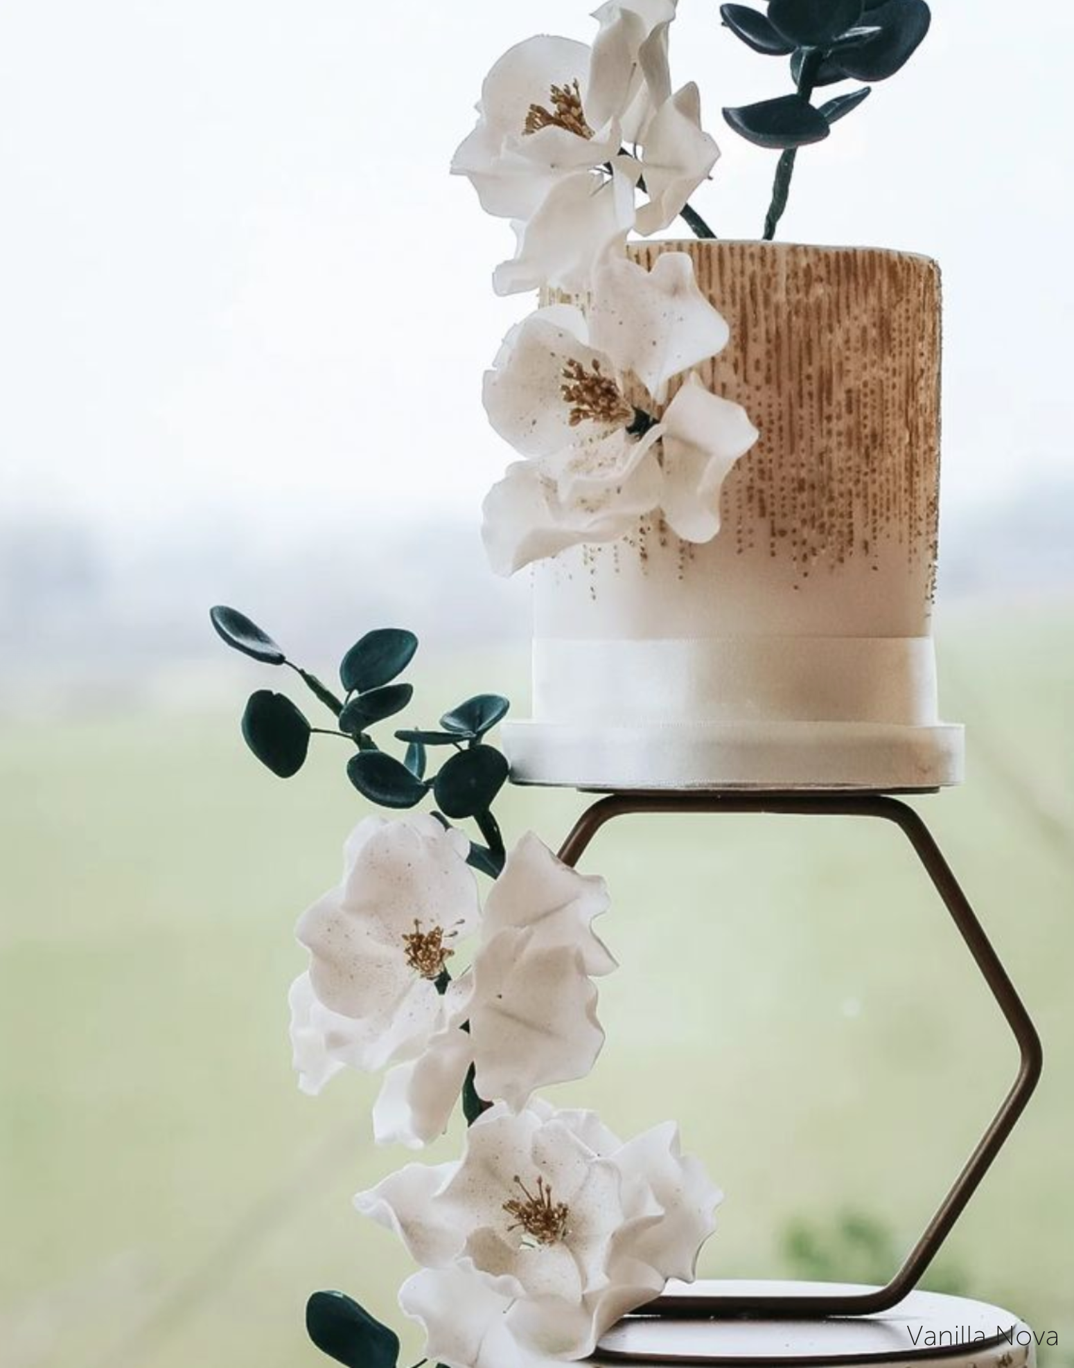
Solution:
<path fill-rule="evenodd" d="M 592 981 L 616 962 L 592 921 L 607 892 L 528 834 L 482 910 L 468 854 L 430 815 L 356 828 L 342 882 L 298 922 L 294 1063 L 306 1092 L 386 1070 L 382 1142 L 432 1141 L 468 1075 L 493 1104 L 460 1160 L 409 1164 L 356 1205 L 420 1265 L 400 1304 L 430 1360 L 538 1368 L 592 1353 L 669 1278 L 692 1278 L 720 1193 L 673 1124 L 621 1144 L 592 1112 L 532 1096 L 588 1074 L 603 1044 Z"/>

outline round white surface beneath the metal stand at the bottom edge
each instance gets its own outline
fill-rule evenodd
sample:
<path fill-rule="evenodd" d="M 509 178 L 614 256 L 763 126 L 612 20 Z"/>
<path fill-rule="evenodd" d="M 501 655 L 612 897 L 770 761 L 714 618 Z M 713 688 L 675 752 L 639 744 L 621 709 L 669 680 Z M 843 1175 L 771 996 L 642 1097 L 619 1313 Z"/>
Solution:
<path fill-rule="evenodd" d="M 676 1297 L 865 1293 L 869 1287 L 791 1282 L 673 1285 Z M 906 1364 L 915 1368 L 1032 1368 L 1034 1339 L 1011 1312 L 965 1297 L 915 1291 L 892 1311 L 825 1320 L 763 1316 L 699 1320 L 628 1316 L 601 1339 L 592 1364 Z"/>

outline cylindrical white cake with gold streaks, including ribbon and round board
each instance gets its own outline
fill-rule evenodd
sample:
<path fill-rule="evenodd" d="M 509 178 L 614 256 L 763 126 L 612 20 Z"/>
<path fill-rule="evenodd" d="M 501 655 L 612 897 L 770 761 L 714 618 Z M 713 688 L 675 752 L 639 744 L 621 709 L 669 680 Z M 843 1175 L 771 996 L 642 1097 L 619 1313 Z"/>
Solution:
<path fill-rule="evenodd" d="M 873 249 L 687 250 L 731 342 L 699 368 L 761 432 L 720 534 L 647 518 L 534 570 L 532 721 L 519 782 L 936 788 L 962 778 L 930 637 L 939 269 Z M 584 306 L 584 300 L 579 301 Z"/>

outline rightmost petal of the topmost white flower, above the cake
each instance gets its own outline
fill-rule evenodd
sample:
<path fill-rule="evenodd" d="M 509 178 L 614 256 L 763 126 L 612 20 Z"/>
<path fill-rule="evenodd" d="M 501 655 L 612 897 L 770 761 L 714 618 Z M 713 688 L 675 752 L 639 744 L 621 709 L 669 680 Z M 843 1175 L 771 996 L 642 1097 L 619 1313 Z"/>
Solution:
<path fill-rule="evenodd" d="M 720 148 L 700 126 L 700 96 L 691 83 L 657 109 L 644 131 L 642 168 L 649 204 L 638 211 L 638 231 L 658 233 L 683 212 L 709 176 Z"/>

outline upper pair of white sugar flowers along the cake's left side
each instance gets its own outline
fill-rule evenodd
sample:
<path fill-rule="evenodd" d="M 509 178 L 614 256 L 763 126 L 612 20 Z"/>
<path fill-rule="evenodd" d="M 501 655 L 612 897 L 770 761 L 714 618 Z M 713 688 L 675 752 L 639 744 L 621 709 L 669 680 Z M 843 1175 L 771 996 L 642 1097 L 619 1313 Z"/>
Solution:
<path fill-rule="evenodd" d="M 666 228 L 718 157 L 696 86 L 672 90 L 674 14 L 676 0 L 609 3 L 592 47 L 520 42 L 488 73 L 477 126 L 456 152 L 451 170 L 514 228 L 497 291 L 588 301 L 586 315 L 565 304 L 529 315 L 486 375 L 490 421 L 524 457 L 484 505 L 501 575 L 617 540 L 649 516 L 683 540 L 710 540 L 722 482 L 758 436 L 694 372 L 728 328 L 690 257 L 666 252 L 646 271 L 627 256 L 628 234 Z"/>

